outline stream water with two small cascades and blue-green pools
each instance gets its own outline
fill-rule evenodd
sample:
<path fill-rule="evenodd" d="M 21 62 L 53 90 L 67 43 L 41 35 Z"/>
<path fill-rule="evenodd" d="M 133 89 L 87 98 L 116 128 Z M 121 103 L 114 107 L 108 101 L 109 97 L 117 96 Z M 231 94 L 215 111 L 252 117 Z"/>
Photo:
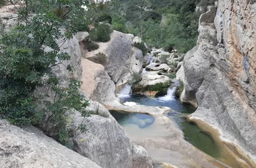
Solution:
<path fill-rule="evenodd" d="M 119 93 L 121 103 L 138 103 L 144 106 L 166 106 L 173 111 L 168 112 L 166 116 L 171 118 L 185 134 L 185 140 L 193 144 L 197 149 L 207 153 L 208 155 L 220 159 L 220 149 L 214 142 L 213 138 L 202 132 L 196 124 L 192 124 L 185 120 L 185 116 L 195 112 L 193 106 L 180 103 L 179 98 L 174 95 L 175 88 L 168 89 L 168 94 L 163 97 L 147 97 L 145 95 L 132 95 L 131 88 L 127 85 Z M 146 114 L 129 114 L 125 112 L 111 111 L 121 125 L 136 124 L 143 129 L 150 126 L 154 122 L 152 116 Z M 148 122 L 146 122 L 148 120 Z M 151 122 L 149 122 L 151 121 Z M 142 124 L 142 126 L 141 126 Z"/>

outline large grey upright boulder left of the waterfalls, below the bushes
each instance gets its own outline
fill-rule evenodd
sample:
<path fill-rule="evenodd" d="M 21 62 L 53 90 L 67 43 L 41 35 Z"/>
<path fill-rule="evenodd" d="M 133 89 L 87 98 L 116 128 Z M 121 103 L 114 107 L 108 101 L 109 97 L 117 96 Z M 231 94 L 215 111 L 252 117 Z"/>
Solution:
<path fill-rule="evenodd" d="M 109 42 L 99 42 L 98 50 L 88 52 L 85 58 L 101 63 L 116 85 L 123 85 L 133 73 L 142 71 L 143 53 L 133 47 L 133 41 L 127 34 L 114 31 Z M 99 62 L 98 59 L 102 61 Z"/>

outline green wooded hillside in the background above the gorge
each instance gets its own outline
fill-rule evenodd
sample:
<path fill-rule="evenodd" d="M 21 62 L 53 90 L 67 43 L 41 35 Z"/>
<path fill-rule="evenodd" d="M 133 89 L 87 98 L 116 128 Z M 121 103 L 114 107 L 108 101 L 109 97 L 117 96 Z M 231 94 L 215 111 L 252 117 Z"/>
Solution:
<path fill-rule="evenodd" d="M 187 52 L 197 40 L 196 4 L 211 0 L 117 0 L 102 12 L 112 17 L 114 30 L 141 36 L 149 46 Z"/>

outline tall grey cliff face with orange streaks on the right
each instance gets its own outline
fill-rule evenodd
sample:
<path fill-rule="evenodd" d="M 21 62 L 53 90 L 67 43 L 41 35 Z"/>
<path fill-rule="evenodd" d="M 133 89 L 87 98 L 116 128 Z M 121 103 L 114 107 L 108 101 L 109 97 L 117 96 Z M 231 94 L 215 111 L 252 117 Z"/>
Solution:
<path fill-rule="evenodd" d="M 209 9 L 177 73 L 185 85 L 181 101 L 198 106 L 191 119 L 218 128 L 255 161 L 256 3 L 220 0 Z"/>

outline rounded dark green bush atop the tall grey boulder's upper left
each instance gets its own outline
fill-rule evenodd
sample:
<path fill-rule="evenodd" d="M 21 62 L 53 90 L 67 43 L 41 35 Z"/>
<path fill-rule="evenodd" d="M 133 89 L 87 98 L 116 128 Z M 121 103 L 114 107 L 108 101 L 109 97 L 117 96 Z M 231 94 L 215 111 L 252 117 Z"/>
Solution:
<path fill-rule="evenodd" d="M 98 24 L 96 28 L 89 31 L 90 40 L 96 42 L 108 42 L 110 40 L 110 33 L 113 32 L 108 24 Z"/>

